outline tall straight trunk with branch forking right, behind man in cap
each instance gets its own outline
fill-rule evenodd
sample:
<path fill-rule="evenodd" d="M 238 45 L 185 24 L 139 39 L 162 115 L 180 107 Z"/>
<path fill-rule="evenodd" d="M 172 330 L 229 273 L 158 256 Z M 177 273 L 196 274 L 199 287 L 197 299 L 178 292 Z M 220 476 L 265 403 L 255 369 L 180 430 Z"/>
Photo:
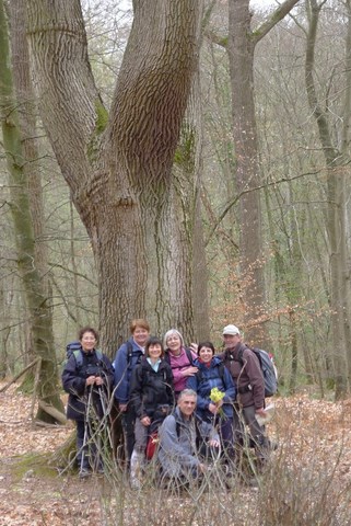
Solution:
<path fill-rule="evenodd" d="M 254 53 L 256 44 L 285 16 L 297 0 L 286 0 L 255 32 L 250 28 L 249 0 L 229 1 L 229 62 L 231 73 L 235 181 L 239 199 L 241 275 L 245 301 L 245 327 L 248 340 L 265 345 L 264 248 L 261 184 L 258 161 L 257 125 L 254 89 Z"/>

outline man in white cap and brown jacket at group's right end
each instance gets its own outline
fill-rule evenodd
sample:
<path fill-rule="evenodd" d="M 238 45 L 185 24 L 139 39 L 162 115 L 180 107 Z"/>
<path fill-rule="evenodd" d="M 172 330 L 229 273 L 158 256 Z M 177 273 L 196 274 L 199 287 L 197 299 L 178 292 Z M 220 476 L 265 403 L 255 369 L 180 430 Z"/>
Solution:
<path fill-rule="evenodd" d="M 230 324 L 223 329 L 224 353 L 222 359 L 231 373 L 237 390 L 237 402 L 234 411 L 234 431 L 237 439 L 243 443 L 245 424 L 248 425 L 255 443 L 256 454 L 264 462 L 267 457 L 268 439 L 265 428 L 258 424 L 256 415 L 265 413 L 265 381 L 255 353 L 242 341 L 241 331 Z"/>

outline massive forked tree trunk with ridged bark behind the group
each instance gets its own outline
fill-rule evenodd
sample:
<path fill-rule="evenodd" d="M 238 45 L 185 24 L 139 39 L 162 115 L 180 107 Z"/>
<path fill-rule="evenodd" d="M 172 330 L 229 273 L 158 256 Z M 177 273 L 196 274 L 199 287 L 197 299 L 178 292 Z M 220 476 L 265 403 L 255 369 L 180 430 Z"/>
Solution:
<path fill-rule="evenodd" d="M 200 4 L 133 2 L 108 115 L 92 77 L 80 2 L 28 1 L 42 118 L 92 241 L 102 343 L 110 354 L 134 317 L 148 317 L 155 332 L 172 324 L 192 335 L 192 222 L 172 202 L 182 201 L 172 165 L 197 60 Z"/>

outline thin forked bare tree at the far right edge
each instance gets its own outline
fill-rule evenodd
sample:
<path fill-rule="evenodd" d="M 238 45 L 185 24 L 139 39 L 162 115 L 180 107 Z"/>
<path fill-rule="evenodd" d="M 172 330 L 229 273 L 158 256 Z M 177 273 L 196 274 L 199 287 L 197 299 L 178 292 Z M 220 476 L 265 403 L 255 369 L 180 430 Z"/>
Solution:
<path fill-rule="evenodd" d="M 315 81 L 315 46 L 319 14 L 325 1 L 307 2 L 307 32 L 306 32 L 306 59 L 305 82 L 311 111 L 316 119 L 319 140 L 325 157 L 327 170 L 327 231 L 329 239 L 329 267 L 330 267 L 330 309 L 331 330 L 334 341 L 332 361 L 335 365 L 336 398 L 346 396 L 348 377 L 351 371 L 351 335 L 350 335 L 350 271 L 346 242 L 346 175 L 349 172 L 349 123 L 351 73 L 346 68 L 347 81 L 344 90 L 344 125 L 341 130 L 340 148 L 332 137 L 329 122 L 329 105 L 323 106 L 319 100 Z M 351 9 L 348 10 L 347 59 L 350 61 L 351 42 Z"/>

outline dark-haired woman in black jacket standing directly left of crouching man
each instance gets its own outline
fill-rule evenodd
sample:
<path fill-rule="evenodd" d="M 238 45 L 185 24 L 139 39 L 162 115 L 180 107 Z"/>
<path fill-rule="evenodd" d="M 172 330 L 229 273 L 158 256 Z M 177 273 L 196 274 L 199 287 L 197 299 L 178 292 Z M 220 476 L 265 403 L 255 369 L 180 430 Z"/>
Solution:
<path fill-rule="evenodd" d="M 161 340 L 152 336 L 145 345 L 145 356 L 134 368 L 130 401 L 136 411 L 136 443 L 130 459 L 130 481 L 140 487 L 149 435 L 156 431 L 174 403 L 173 374 L 164 358 Z"/>

